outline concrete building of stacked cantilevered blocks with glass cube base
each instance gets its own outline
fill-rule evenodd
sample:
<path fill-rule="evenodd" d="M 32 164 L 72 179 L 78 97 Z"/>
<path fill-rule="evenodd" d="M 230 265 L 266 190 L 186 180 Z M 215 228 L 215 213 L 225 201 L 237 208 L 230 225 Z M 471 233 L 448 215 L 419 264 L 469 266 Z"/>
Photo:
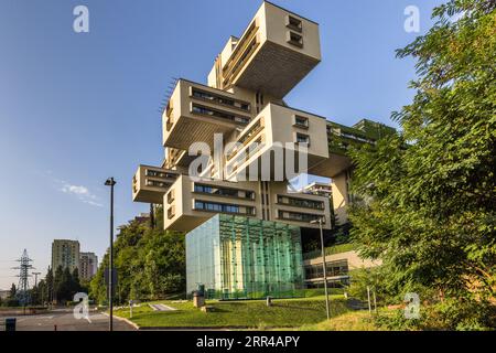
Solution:
<path fill-rule="evenodd" d="M 188 290 L 255 298 L 303 286 L 301 243 L 319 221 L 331 228 L 331 211 L 328 195 L 290 188 L 295 174 L 332 178 L 334 213 L 346 222 L 347 148 L 392 129 L 289 107 L 284 96 L 320 61 L 319 24 L 265 1 L 227 40 L 206 85 L 176 81 L 162 115 L 164 160 L 138 168 L 132 196 L 162 204 L 165 229 L 187 232 Z"/>

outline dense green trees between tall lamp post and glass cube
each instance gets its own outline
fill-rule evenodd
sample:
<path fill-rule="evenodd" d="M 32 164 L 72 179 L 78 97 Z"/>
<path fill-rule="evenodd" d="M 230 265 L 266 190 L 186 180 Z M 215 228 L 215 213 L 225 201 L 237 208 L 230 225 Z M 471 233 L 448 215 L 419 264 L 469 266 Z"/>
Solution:
<path fill-rule="evenodd" d="M 184 234 L 132 221 L 120 227 L 114 252 L 117 302 L 162 299 L 185 291 Z M 107 267 L 108 254 L 89 286 L 91 297 L 100 303 L 108 296 L 104 278 Z"/>

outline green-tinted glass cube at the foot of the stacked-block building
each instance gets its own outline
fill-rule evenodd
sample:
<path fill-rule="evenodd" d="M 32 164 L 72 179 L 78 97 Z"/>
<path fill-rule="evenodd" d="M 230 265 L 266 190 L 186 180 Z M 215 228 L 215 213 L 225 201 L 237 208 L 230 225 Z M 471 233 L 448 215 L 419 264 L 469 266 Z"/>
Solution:
<path fill-rule="evenodd" d="M 187 291 L 208 298 L 298 297 L 303 289 L 300 228 L 218 214 L 186 235 Z"/>

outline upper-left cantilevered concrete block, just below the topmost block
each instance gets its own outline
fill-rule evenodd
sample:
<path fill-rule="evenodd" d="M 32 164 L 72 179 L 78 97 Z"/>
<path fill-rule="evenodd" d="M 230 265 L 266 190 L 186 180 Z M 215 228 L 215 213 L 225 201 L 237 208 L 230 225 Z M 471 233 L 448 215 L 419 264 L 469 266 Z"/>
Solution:
<path fill-rule="evenodd" d="M 213 147 L 214 135 L 228 135 L 252 118 L 251 97 L 180 79 L 162 117 L 163 146 L 187 150 L 194 142 Z"/>

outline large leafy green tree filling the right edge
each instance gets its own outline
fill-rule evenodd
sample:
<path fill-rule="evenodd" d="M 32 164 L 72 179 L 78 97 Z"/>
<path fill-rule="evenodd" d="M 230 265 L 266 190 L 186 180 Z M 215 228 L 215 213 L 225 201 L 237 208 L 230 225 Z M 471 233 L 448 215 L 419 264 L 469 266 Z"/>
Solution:
<path fill-rule="evenodd" d="M 496 297 L 496 1 L 452 0 L 398 51 L 417 60 L 402 132 L 352 152 L 352 235 L 398 295 Z M 427 298 L 425 298 L 427 299 Z"/>

